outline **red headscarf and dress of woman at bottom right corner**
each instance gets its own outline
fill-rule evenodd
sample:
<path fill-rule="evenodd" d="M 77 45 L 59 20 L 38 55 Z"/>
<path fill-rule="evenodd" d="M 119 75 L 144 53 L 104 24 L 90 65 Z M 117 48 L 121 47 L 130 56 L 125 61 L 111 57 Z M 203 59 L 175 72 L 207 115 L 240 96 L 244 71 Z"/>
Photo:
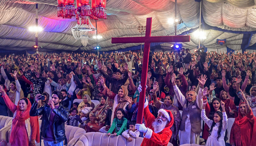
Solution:
<path fill-rule="evenodd" d="M 244 103 L 244 102 L 242 102 Z M 239 104 L 240 105 L 242 104 Z M 247 112 L 247 111 L 245 111 Z M 250 114 L 250 115 L 249 115 Z M 252 110 L 249 110 L 249 116 L 253 116 Z M 253 122 L 253 123 L 251 123 Z M 248 118 L 248 116 L 243 117 L 240 110 L 238 110 L 238 117 L 235 119 L 235 123 L 240 126 L 241 131 L 241 141 L 243 146 L 253 146 L 256 143 L 256 118 Z"/>

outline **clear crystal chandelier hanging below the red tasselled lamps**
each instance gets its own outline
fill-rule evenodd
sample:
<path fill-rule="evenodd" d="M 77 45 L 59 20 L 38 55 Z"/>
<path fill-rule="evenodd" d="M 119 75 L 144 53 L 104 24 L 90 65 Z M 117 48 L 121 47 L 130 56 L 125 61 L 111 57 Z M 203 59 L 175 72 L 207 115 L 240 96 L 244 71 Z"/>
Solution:
<path fill-rule="evenodd" d="M 91 24 L 90 20 L 87 21 L 88 24 L 76 24 L 75 27 L 71 29 L 72 34 L 75 39 L 81 40 L 83 46 L 87 46 L 88 41 L 92 40 L 96 36 L 96 28 Z"/>

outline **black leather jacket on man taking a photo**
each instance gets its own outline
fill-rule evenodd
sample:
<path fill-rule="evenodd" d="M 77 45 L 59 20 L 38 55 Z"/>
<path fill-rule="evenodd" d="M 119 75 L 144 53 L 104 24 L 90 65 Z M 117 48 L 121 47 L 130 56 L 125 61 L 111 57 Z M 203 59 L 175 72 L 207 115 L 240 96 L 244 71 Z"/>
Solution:
<path fill-rule="evenodd" d="M 45 104 L 42 107 L 37 109 L 37 104 L 34 103 L 31 107 L 31 110 L 29 112 L 30 116 L 42 116 L 42 124 L 41 124 L 41 134 L 42 137 L 45 138 L 46 130 L 49 125 L 49 119 L 50 119 L 50 112 L 51 109 L 49 105 Z M 63 107 L 63 105 L 60 104 L 59 108 L 54 108 L 53 110 L 55 116 L 54 116 L 54 122 L 53 122 L 53 132 L 55 136 L 54 143 L 59 143 L 61 141 L 64 141 L 66 138 L 65 136 L 65 122 L 68 120 L 68 108 Z"/>

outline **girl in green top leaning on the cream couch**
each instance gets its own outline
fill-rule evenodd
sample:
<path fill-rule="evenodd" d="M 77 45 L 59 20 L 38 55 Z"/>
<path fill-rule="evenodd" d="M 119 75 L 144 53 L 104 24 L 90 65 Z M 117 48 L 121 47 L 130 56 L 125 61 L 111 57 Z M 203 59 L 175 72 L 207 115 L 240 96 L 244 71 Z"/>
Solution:
<path fill-rule="evenodd" d="M 114 118 L 111 127 L 109 128 L 108 135 L 114 131 L 114 128 L 116 128 L 116 132 L 114 133 L 115 136 L 120 135 L 125 130 L 127 130 L 127 119 L 124 118 L 124 110 L 122 108 L 119 108 L 116 112 L 117 118 Z"/>

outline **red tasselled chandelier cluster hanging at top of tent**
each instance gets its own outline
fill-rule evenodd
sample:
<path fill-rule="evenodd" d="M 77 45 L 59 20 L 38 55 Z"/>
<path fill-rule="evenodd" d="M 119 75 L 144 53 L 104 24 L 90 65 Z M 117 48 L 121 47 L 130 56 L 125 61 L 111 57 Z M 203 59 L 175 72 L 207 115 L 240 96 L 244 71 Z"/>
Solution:
<path fill-rule="evenodd" d="M 106 0 L 58 0 L 58 17 L 71 19 L 76 16 L 78 24 L 89 24 L 89 19 L 107 19 Z"/>

